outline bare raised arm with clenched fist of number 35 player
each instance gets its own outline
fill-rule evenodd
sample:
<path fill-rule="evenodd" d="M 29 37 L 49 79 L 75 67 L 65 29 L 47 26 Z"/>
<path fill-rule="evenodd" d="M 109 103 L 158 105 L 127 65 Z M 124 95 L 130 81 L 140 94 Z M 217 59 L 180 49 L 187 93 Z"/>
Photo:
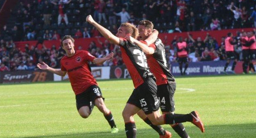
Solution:
<path fill-rule="evenodd" d="M 116 37 L 108 29 L 104 28 L 103 26 L 101 26 L 100 24 L 95 22 L 95 20 L 93 20 L 93 17 L 91 15 L 88 15 L 86 17 L 86 22 L 89 22 L 90 24 L 95 26 L 97 28 L 97 30 L 99 31 L 99 33 L 101 33 L 106 39 L 113 42 L 114 44 L 119 45 L 119 42 L 120 42 L 119 37 Z"/>

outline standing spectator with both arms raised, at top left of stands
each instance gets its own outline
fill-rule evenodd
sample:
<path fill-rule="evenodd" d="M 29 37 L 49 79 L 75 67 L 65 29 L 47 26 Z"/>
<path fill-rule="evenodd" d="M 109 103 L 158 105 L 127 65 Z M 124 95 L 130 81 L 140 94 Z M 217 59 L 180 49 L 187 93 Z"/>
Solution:
<path fill-rule="evenodd" d="M 64 19 L 66 25 L 68 24 L 68 16 L 66 14 L 66 4 L 69 4 L 70 2 L 71 0 L 69 0 L 68 2 L 64 2 L 63 0 L 60 0 L 59 4 L 53 1 L 51 2 L 52 4 L 58 5 L 59 7 L 58 25 L 60 25 L 62 19 Z"/>

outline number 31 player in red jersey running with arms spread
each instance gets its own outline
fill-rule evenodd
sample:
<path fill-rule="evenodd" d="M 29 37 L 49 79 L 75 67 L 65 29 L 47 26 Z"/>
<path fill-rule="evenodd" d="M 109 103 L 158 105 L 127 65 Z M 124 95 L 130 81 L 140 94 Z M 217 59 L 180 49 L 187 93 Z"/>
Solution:
<path fill-rule="evenodd" d="M 88 64 L 88 61 L 94 64 L 102 64 L 104 61 L 111 59 L 114 54 L 110 53 L 104 58 L 96 58 L 88 51 L 75 50 L 74 41 L 70 35 L 65 35 L 62 38 L 61 46 L 66 51 L 66 56 L 62 57 L 60 61 L 61 69 L 51 68 L 44 62 L 42 64 L 38 63 L 37 66 L 42 70 L 48 70 L 63 77 L 68 73 L 72 89 L 75 92 L 76 106 L 80 116 L 88 118 L 95 105 L 108 121 L 111 133 L 117 133 L 118 129 L 113 115 L 104 103 L 102 92 L 91 74 Z"/>

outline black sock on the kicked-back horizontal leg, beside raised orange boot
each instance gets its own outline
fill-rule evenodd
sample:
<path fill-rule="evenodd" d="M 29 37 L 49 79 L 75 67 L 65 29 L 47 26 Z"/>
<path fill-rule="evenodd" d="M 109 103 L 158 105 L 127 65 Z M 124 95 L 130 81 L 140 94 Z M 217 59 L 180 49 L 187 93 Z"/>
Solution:
<path fill-rule="evenodd" d="M 191 114 L 164 114 L 165 124 L 176 124 L 183 122 L 192 122 Z"/>

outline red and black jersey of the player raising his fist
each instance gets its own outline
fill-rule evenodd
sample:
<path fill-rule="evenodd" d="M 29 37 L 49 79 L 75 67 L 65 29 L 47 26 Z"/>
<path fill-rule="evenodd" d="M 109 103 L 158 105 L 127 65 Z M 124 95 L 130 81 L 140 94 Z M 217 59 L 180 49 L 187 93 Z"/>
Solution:
<path fill-rule="evenodd" d="M 148 77 L 154 76 L 149 71 L 145 53 L 136 44 L 120 38 L 119 45 L 124 64 L 130 73 L 135 88 L 144 83 Z"/>

